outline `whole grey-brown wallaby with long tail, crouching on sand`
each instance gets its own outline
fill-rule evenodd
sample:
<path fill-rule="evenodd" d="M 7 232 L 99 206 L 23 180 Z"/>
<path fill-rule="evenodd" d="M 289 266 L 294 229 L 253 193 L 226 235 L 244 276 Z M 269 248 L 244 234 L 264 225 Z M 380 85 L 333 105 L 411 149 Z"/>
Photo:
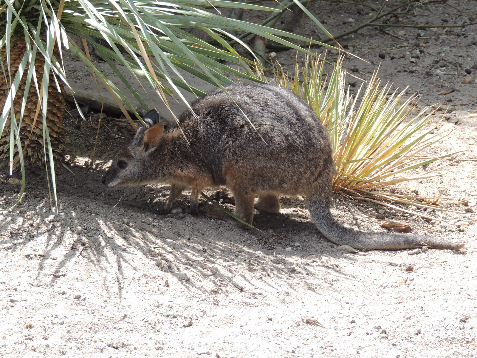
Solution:
<path fill-rule="evenodd" d="M 190 209 L 196 214 L 201 190 L 224 185 L 234 195 L 236 215 L 250 224 L 256 194 L 255 208 L 270 213 L 280 210 L 279 194 L 305 195 L 318 230 L 339 245 L 367 250 L 464 246 L 423 235 L 356 232 L 342 226 L 329 208 L 334 174 L 330 139 L 311 107 L 289 90 L 269 84 L 225 88 L 228 95 L 216 89 L 194 102 L 194 113 L 179 117 L 180 128 L 164 129 L 157 112 L 149 111 L 146 126 L 114 156 L 104 185 L 170 183 L 165 212 L 190 187 Z"/>

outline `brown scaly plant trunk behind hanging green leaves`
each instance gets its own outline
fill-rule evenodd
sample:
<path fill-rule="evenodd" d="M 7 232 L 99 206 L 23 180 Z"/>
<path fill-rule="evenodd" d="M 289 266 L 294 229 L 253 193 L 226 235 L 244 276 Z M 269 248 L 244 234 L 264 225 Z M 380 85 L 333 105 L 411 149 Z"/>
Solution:
<path fill-rule="evenodd" d="M 8 75 L 8 73 L 7 76 L 5 76 L 3 71 L 0 70 L 0 108 L 3 107 L 6 101 L 7 95 L 10 90 L 10 78 L 13 80 L 15 73 L 21 63 L 25 50 L 25 39 L 16 39 L 11 42 L 11 77 Z M 55 57 L 59 58 L 59 56 L 57 55 L 57 50 L 55 52 Z M 38 55 L 35 59 L 35 72 L 38 85 L 40 86 L 43 78 L 45 60 L 40 52 L 38 52 L 37 54 Z M 5 71 L 8 71 L 7 59 L 4 51 L 0 52 L 0 58 L 3 59 L 3 68 L 5 69 Z M 25 69 L 25 72 L 27 71 L 28 67 Z M 23 77 L 22 82 L 19 86 L 19 90 L 17 91 L 13 101 L 17 124 L 20 123 L 21 102 L 23 94 L 25 92 L 25 82 L 26 76 Z M 60 81 L 58 82 L 60 83 L 60 86 L 62 88 L 62 83 Z M 28 89 L 28 98 L 25 106 L 25 112 L 21 121 L 20 138 L 21 147 L 23 148 L 23 154 L 25 157 L 25 164 L 30 170 L 33 171 L 36 171 L 37 169 L 44 169 L 45 165 L 41 109 L 39 111 L 37 120 L 35 121 L 34 119 L 35 113 L 37 111 L 37 105 L 38 93 L 36 91 L 34 81 L 31 80 L 30 88 Z M 50 133 L 53 158 L 55 161 L 58 162 L 62 160 L 65 148 L 65 138 L 62 124 L 62 113 L 64 106 L 64 98 L 62 94 L 58 91 L 53 75 L 52 73 L 50 73 L 48 104 L 46 109 L 46 124 Z M 9 120 L 7 121 L 5 129 L 0 137 L 0 168 L 5 168 L 10 165 L 10 119 L 11 118 L 9 118 Z M 46 157 L 48 158 L 48 155 Z M 20 167 L 20 162 L 18 160 L 18 150 L 16 146 L 13 163 L 14 170 Z M 55 168 L 59 168 L 59 166 L 55 166 Z"/>

